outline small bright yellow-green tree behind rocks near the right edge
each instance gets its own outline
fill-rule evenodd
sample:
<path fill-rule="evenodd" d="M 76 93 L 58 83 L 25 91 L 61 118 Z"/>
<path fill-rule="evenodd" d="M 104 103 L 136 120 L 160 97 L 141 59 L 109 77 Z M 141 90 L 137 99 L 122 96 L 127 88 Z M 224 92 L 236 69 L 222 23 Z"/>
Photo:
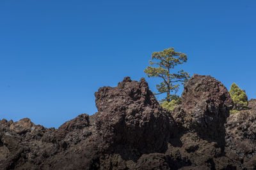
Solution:
<path fill-rule="evenodd" d="M 244 106 L 248 105 L 248 98 L 245 91 L 240 89 L 236 83 L 232 83 L 229 93 L 234 101 L 235 110 L 242 110 Z"/>

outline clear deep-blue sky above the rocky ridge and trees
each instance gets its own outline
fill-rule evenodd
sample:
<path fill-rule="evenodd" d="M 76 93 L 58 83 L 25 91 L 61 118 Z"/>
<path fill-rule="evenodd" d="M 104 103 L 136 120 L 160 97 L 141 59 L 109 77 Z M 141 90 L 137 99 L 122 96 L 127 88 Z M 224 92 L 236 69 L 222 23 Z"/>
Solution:
<path fill-rule="evenodd" d="M 256 98 L 256 1 L 0 1 L 0 119 L 59 127 L 97 111 L 94 92 L 174 47 L 182 66 Z M 180 93 L 182 90 L 180 91 Z"/>

